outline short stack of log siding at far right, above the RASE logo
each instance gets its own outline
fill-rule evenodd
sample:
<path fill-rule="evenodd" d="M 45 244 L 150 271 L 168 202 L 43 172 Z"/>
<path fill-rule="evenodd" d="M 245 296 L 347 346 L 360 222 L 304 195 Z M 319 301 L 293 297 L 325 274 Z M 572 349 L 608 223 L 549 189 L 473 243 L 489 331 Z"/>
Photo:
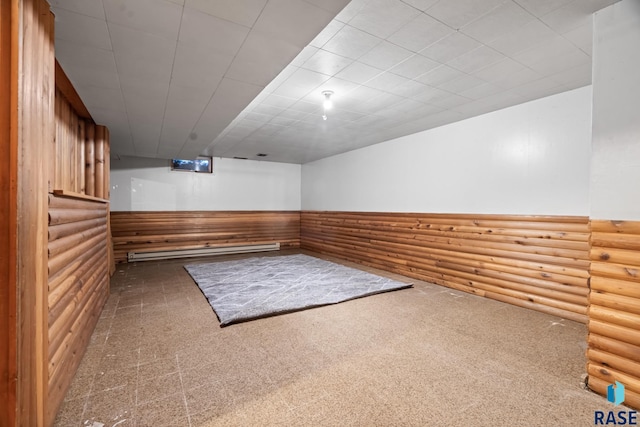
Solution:
<path fill-rule="evenodd" d="M 640 222 L 591 221 L 589 387 L 607 394 L 625 385 L 625 404 L 640 409 Z"/>

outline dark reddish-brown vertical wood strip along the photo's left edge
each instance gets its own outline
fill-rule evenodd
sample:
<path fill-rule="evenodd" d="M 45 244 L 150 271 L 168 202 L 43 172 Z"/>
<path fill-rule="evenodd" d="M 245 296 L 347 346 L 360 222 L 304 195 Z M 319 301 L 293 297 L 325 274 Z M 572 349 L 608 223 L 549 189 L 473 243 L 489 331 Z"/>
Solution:
<path fill-rule="evenodd" d="M 0 424 L 16 424 L 16 182 L 18 27 L 14 2 L 0 0 Z M 4 425 L 4 424 L 2 424 Z"/>

